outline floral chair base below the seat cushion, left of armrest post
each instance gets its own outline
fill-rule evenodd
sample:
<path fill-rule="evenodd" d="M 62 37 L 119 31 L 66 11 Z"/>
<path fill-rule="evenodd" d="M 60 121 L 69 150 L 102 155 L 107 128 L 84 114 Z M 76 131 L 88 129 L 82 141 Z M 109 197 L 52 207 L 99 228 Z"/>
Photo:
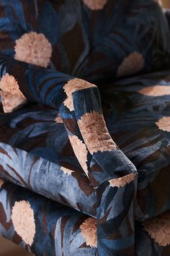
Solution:
<path fill-rule="evenodd" d="M 40 256 L 97 255 L 95 219 L 9 182 L 0 187 L 0 231 L 7 239 Z"/>

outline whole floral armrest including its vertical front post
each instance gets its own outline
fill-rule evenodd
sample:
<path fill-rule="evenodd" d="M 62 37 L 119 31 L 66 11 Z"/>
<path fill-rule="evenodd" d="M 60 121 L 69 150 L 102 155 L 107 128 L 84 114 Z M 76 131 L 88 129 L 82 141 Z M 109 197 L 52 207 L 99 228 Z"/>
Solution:
<path fill-rule="evenodd" d="M 76 158 L 96 191 L 99 255 L 134 255 L 138 175 L 109 135 L 97 86 L 3 56 L 0 64 L 1 77 L 9 74 L 15 81 L 1 90 L 60 109 Z"/>

